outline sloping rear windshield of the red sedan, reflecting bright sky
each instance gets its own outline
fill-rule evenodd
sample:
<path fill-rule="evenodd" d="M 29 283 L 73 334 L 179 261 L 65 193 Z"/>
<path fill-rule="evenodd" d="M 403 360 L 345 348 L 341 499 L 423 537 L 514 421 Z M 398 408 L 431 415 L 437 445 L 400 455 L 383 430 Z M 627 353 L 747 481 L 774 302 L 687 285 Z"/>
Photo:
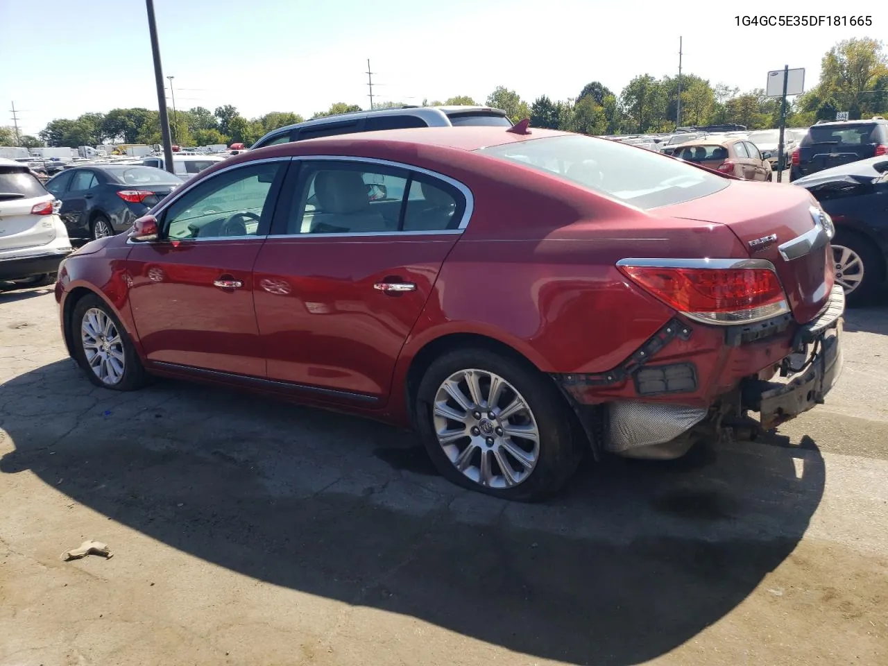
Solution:
<path fill-rule="evenodd" d="M 566 178 L 640 209 L 690 201 L 728 186 L 726 178 L 710 171 L 607 139 L 530 139 L 478 152 Z"/>

